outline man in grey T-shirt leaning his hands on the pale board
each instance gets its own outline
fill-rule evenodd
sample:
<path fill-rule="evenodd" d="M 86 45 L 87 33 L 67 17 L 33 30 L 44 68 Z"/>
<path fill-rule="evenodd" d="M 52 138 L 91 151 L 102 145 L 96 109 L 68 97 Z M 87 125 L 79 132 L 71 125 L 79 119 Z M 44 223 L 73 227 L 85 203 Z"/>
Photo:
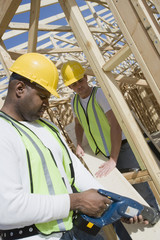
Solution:
<path fill-rule="evenodd" d="M 96 172 L 97 177 L 106 176 L 115 167 L 120 171 L 139 169 L 139 164 L 102 89 L 88 85 L 85 69 L 77 61 L 64 63 L 61 75 L 64 84 L 75 92 L 71 106 L 75 117 L 76 154 L 79 157 L 84 155 L 82 140 L 85 133 L 95 155 L 102 153 L 109 158 Z M 152 207 L 158 209 L 148 183 L 135 184 L 134 187 Z M 120 232 L 122 233 L 121 229 Z M 130 238 L 126 236 L 121 239 Z"/>

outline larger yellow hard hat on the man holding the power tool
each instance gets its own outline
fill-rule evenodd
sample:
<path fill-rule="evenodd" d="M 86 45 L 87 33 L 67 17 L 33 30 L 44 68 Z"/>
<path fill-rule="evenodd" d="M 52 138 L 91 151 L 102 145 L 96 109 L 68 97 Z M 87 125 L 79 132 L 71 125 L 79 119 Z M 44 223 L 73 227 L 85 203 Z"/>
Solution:
<path fill-rule="evenodd" d="M 54 63 L 44 55 L 26 53 L 17 58 L 9 70 L 39 84 L 54 96 L 59 97 L 56 92 L 58 70 Z"/>

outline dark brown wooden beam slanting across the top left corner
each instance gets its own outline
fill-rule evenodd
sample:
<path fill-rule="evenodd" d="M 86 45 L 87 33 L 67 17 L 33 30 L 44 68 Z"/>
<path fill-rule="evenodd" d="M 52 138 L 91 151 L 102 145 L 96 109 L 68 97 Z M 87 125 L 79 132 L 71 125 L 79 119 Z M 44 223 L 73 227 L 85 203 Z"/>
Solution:
<path fill-rule="evenodd" d="M 12 20 L 21 0 L 1 0 L 0 1 L 0 38 L 5 32 L 8 24 Z"/>

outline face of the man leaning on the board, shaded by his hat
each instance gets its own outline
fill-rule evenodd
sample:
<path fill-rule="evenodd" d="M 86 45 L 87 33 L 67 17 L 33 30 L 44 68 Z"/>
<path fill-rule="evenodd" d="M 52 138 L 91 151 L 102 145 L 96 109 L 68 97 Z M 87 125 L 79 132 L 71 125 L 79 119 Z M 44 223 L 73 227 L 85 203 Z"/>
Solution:
<path fill-rule="evenodd" d="M 86 98 L 90 94 L 90 87 L 87 83 L 87 76 L 84 75 L 83 78 L 77 82 L 72 83 L 69 87 L 76 92 L 81 98 Z"/>

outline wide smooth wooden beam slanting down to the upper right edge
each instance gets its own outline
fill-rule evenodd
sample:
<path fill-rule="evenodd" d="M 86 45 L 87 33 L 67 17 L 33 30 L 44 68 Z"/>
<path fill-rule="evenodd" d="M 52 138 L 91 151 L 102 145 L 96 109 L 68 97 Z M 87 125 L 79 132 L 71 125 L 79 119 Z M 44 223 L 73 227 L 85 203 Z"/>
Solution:
<path fill-rule="evenodd" d="M 153 42 L 130 1 L 106 0 L 106 2 L 160 104 L 160 56 Z"/>

